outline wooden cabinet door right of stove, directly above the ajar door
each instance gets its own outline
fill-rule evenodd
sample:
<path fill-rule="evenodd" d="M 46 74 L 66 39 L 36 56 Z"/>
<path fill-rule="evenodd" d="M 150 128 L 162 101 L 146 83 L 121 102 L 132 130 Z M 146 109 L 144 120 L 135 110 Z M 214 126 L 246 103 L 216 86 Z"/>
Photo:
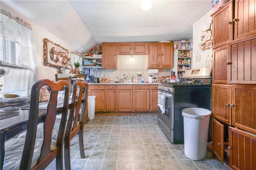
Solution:
<path fill-rule="evenodd" d="M 212 117 L 228 125 L 232 124 L 231 85 L 212 85 Z"/>

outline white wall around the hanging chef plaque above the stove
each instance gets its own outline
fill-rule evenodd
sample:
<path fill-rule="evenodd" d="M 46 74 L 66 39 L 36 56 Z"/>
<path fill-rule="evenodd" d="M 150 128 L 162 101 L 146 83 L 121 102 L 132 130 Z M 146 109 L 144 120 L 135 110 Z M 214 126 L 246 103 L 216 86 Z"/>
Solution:
<path fill-rule="evenodd" d="M 213 13 L 213 10 L 210 10 L 207 14 L 205 14 L 200 20 L 198 20 L 195 24 L 193 24 L 193 57 L 192 57 L 192 68 L 201 68 L 205 67 L 205 61 L 207 56 L 210 56 L 212 60 L 212 48 L 205 49 L 202 51 L 198 44 L 201 41 L 201 28 L 207 23 L 212 23 L 212 17 L 210 16 Z M 196 55 L 200 54 L 200 61 L 196 61 Z M 212 61 L 211 61 L 212 62 Z"/>

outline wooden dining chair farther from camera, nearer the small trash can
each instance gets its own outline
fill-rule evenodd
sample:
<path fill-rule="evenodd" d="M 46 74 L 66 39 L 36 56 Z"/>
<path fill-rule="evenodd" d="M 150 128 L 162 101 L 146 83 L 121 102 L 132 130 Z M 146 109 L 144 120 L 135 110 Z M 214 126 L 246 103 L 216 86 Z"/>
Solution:
<path fill-rule="evenodd" d="M 64 137 L 64 159 L 65 169 L 71 170 L 70 165 L 70 140 L 78 134 L 81 158 L 84 154 L 84 114 L 86 113 L 88 83 L 86 81 L 75 81 L 72 93 L 72 102 L 66 132 Z"/>

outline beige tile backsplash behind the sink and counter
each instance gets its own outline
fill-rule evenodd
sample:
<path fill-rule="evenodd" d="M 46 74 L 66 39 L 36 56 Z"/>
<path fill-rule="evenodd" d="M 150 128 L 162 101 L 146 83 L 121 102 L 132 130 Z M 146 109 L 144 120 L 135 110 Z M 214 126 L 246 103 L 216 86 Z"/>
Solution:
<path fill-rule="evenodd" d="M 117 60 L 117 69 L 101 69 L 98 70 L 98 74 L 94 71 L 94 76 L 106 76 L 115 79 L 115 77 L 124 78 L 124 75 L 128 75 L 128 80 L 131 80 L 132 75 L 137 79 L 141 79 L 141 76 L 137 76 L 137 73 L 141 73 L 144 79 L 148 78 L 148 75 L 153 77 L 162 77 L 170 75 L 170 69 L 158 69 L 158 73 L 148 73 L 148 56 L 147 55 L 119 55 Z M 135 78 L 134 78 L 135 81 Z"/>

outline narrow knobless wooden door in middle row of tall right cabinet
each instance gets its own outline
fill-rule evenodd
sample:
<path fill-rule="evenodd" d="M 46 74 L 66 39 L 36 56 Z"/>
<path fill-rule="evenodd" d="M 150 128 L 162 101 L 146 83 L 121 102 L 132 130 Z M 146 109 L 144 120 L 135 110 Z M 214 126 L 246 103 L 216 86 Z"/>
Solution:
<path fill-rule="evenodd" d="M 227 45 L 212 50 L 212 83 L 227 84 Z"/>

